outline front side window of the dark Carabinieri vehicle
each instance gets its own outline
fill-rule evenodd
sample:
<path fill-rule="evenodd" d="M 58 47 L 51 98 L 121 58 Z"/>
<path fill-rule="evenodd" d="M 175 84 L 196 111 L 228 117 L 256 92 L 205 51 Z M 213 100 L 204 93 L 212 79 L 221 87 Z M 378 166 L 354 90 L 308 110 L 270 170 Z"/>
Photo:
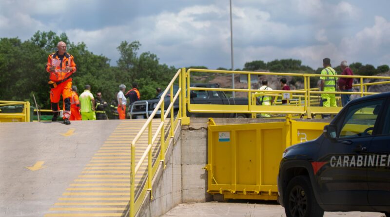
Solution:
<path fill-rule="evenodd" d="M 370 136 L 384 100 L 352 105 L 341 127 L 339 138 Z"/>

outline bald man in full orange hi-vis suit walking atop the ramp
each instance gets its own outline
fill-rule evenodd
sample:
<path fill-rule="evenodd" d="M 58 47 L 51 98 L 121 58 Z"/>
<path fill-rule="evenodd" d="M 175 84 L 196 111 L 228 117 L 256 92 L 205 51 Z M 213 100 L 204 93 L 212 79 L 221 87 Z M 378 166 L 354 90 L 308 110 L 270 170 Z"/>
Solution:
<path fill-rule="evenodd" d="M 50 102 L 53 110 L 52 121 L 56 121 L 59 116 L 59 98 L 62 95 L 64 101 L 63 120 L 64 124 L 70 124 L 72 78 L 70 76 L 76 72 L 76 64 L 73 56 L 66 53 L 66 44 L 63 41 L 57 44 L 58 51 L 50 54 L 47 58 L 46 71 L 50 73 L 51 86 Z"/>

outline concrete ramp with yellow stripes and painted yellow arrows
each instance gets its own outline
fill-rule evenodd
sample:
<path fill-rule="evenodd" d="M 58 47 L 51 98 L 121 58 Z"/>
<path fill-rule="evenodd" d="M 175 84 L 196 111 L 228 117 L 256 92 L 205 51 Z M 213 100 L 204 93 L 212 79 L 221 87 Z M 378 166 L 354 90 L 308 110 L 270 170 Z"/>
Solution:
<path fill-rule="evenodd" d="M 0 123 L 0 216 L 122 216 L 130 199 L 130 142 L 144 122 Z M 147 140 L 146 132 L 136 158 Z M 146 169 L 136 177 L 138 188 Z"/>

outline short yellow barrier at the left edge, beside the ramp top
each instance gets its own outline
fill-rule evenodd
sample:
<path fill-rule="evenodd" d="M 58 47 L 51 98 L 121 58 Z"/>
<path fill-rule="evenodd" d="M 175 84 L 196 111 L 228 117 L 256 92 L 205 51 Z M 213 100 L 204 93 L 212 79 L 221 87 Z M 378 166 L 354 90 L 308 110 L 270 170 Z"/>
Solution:
<path fill-rule="evenodd" d="M 18 106 L 22 107 L 21 112 L 5 113 L 1 109 L 3 106 Z M 29 122 L 30 121 L 30 102 L 20 101 L 3 101 L 0 100 L 0 122 Z"/>

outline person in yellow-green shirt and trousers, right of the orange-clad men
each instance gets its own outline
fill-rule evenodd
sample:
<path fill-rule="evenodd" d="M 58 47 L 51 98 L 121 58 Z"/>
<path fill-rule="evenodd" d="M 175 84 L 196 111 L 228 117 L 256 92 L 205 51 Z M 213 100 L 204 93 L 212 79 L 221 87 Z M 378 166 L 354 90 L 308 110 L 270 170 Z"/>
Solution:
<path fill-rule="evenodd" d="M 79 97 L 81 106 L 81 119 L 82 120 L 96 120 L 94 112 L 95 98 L 91 93 L 91 86 L 85 85 L 84 92 Z"/>

